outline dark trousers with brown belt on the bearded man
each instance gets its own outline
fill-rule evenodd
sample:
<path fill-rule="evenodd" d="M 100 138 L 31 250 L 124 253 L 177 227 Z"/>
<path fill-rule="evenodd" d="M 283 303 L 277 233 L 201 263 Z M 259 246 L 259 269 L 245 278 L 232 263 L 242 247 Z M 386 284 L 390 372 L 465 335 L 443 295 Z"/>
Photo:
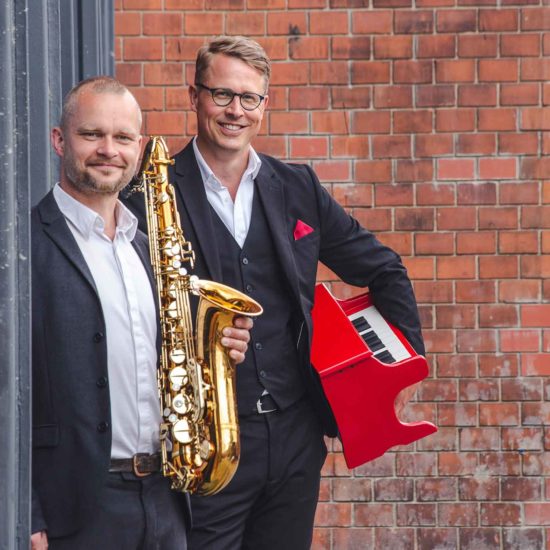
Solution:
<path fill-rule="evenodd" d="M 49 550 L 186 550 L 183 502 L 160 473 L 109 473 L 88 523 Z"/>

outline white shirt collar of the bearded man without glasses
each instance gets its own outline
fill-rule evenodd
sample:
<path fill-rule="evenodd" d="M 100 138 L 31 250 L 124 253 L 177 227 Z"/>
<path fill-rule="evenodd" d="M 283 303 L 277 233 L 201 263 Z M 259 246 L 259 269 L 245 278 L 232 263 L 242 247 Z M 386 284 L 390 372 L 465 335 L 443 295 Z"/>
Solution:
<path fill-rule="evenodd" d="M 53 196 L 61 213 L 85 239 L 89 239 L 92 232 L 104 232 L 105 221 L 103 218 L 69 195 L 59 183 L 56 183 L 53 188 Z M 137 231 L 137 218 L 120 201 L 117 201 L 116 204 L 115 219 L 116 232 L 132 241 Z"/>

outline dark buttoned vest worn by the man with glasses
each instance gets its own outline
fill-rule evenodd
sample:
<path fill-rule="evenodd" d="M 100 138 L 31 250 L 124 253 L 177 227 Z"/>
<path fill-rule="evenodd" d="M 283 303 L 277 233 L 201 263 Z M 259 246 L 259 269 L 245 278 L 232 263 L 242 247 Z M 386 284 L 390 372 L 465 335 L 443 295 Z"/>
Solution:
<path fill-rule="evenodd" d="M 266 389 L 280 409 L 304 393 L 292 329 L 294 310 L 286 277 L 277 254 L 258 192 L 254 193 L 250 228 L 243 248 L 238 245 L 214 209 L 214 231 L 220 251 L 223 283 L 260 302 L 264 313 L 254 320 L 251 342 L 243 363 L 237 365 L 239 414 L 256 410 Z"/>

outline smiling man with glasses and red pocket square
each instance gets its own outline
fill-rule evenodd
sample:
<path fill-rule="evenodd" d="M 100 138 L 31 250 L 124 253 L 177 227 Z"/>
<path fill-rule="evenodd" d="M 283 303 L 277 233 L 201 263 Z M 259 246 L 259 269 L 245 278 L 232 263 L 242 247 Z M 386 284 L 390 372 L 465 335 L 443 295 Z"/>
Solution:
<path fill-rule="evenodd" d="M 189 547 L 197 550 L 311 545 L 324 434 L 336 435 L 309 363 L 318 261 L 347 283 L 368 285 L 382 313 L 424 352 L 397 254 L 348 216 L 309 166 L 251 146 L 268 106 L 270 70 L 248 38 L 219 37 L 199 50 L 189 87 L 197 136 L 170 173 L 197 275 L 264 307 L 237 368 L 239 468 L 220 493 L 192 497 Z M 140 204 L 130 204 L 144 223 Z"/>

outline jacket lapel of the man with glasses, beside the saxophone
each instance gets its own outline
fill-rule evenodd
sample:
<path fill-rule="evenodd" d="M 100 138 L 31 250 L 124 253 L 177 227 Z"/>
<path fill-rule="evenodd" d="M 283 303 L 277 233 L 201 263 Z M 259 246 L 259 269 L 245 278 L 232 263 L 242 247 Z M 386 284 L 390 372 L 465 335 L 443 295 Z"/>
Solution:
<path fill-rule="evenodd" d="M 218 243 L 212 225 L 210 204 L 206 197 L 199 166 L 190 142 L 181 153 L 175 157 L 174 181 L 179 210 L 184 210 L 193 227 L 197 243 L 192 242 L 193 248 L 200 246 L 210 277 L 219 281 L 222 278 L 222 269 L 218 253 Z M 184 220 L 182 220 L 184 223 Z M 188 236 L 186 235 L 187 239 Z"/>

